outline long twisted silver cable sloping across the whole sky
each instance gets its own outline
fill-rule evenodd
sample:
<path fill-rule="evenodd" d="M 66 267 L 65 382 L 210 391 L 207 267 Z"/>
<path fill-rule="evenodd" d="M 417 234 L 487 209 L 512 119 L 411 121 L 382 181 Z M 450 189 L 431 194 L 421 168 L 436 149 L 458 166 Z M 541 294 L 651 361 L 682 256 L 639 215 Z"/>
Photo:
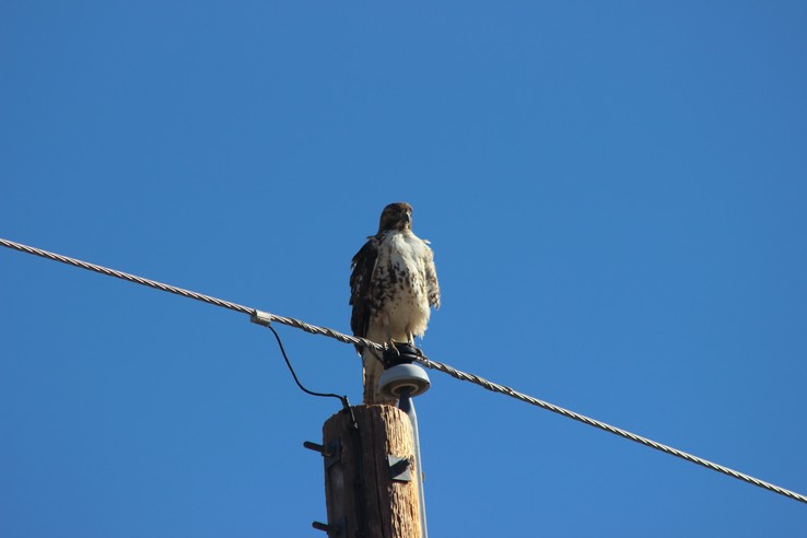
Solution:
<path fill-rule="evenodd" d="M 317 327 L 316 325 L 309 325 L 305 321 L 301 321 L 300 319 L 294 319 L 291 317 L 283 317 L 283 316 L 277 316 L 274 314 L 270 314 L 268 312 L 258 311 L 256 308 L 250 308 L 247 306 L 243 306 L 236 303 L 231 303 L 229 301 L 222 301 L 220 299 L 212 297 L 210 295 L 204 295 L 202 293 L 192 292 L 189 290 L 184 290 L 182 288 L 176 288 L 169 284 L 164 284 L 162 282 L 157 282 L 154 280 L 144 279 L 142 277 L 137 277 L 134 274 L 129 274 L 121 271 L 116 271 L 115 269 L 109 269 L 103 266 L 97 266 L 95 264 L 89 264 L 86 261 L 81 261 L 74 258 L 69 258 L 67 256 L 62 256 L 55 253 L 49 253 L 47 250 L 43 250 L 40 248 L 35 248 L 32 246 L 23 245 L 20 243 L 14 243 L 12 241 L 0 238 L 0 245 L 4 246 L 7 248 L 11 248 L 14 250 L 20 250 L 23 253 L 32 254 L 35 256 L 40 256 L 43 258 L 47 258 L 54 261 L 60 261 L 62 264 L 71 265 L 74 267 L 79 267 L 82 269 L 87 269 L 90 271 L 100 272 L 102 274 L 106 274 L 108 277 L 115 277 L 121 280 L 126 280 L 129 282 L 133 282 L 141 285 L 147 285 L 149 288 L 154 288 L 156 290 L 165 291 L 168 293 L 174 293 L 177 295 L 183 295 L 185 297 L 194 299 L 196 301 L 201 301 L 203 303 L 212 304 L 215 306 L 220 306 L 222 308 L 229 308 L 231 311 L 239 312 L 242 314 L 248 314 L 253 320 L 253 323 L 269 326 L 272 321 L 277 321 L 282 325 L 288 325 L 291 327 L 295 327 L 297 329 L 302 329 L 306 332 L 311 332 L 313 335 L 321 335 L 329 338 L 334 338 L 336 340 L 339 340 L 343 343 L 352 343 L 354 346 L 363 346 L 376 349 L 378 351 L 383 351 L 386 349 L 386 346 L 366 340 L 364 338 L 358 338 L 353 336 L 343 335 L 339 331 L 336 331 L 334 329 L 329 329 L 327 327 Z M 724 467 L 722 465 L 714 464 L 712 461 L 709 461 L 706 459 L 700 458 L 698 456 L 693 456 L 692 454 L 688 454 L 686 452 L 679 451 L 677 448 L 672 448 L 670 446 L 664 445 L 662 443 L 658 443 L 656 441 L 643 437 L 641 435 L 636 435 L 635 433 L 631 433 L 627 430 L 622 430 L 620 428 L 612 426 L 610 424 L 606 424 L 605 422 L 600 422 L 598 420 L 585 417 L 583 414 L 576 413 L 574 411 L 570 411 L 569 409 L 564 409 L 562 407 L 555 406 L 553 404 L 549 404 L 543 400 L 539 400 L 538 398 L 534 398 L 533 396 L 519 393 L 511 387 L 507 387 L 505 385 L 500 385 L 498 383 L 490 382 L 486 379 L 484 377 L 480 377 L 475 374 L 468 374 L 466 372 L 459 371 L 454 369 L 453 366 L 449 366 L 447 364 L 432 361 L 428 359 L 424 355 L 421 355 L 418 358 L 418 362 L 422 364 L 423 366 L 426 366 L 432 370 L 436 370 L 438 372 L 443 372 L 445 374 L 451 375 L 452 377 L 472 383 L 475 385 L 478 385 L 487 390 L 491 390 L 493 393 L 503 394 L 505 396 L 510 396 L 511 398 L 515 398 L 517 400 L 524 401 L 526 404 L 540 407 L 541 409 L 546 409 L 547 411 L 551 411 L 557 414 L 561 414 L 563 417 L 566 417 L 569 419 L 574 419 L 578 422 L 582 422 L 584 424 L 588 424 L 590 426 L 597 428 L 599 430 L 606 431 L 608 433 L 612 433 L 615 435 L 619 435 L 620 437 L 627 438 L 629 441 L 633 441 L 634 443 L 642 444 L 644 446 L 648 446 L 651 448 L 654 448 L 656 451 L 664 452 L 666 454 L 669 454 L 671 456 L 685 459 L 687 461 L 690 461 L 692 464 L 700 465 L 702 467 L 705 467 L 707 469 L 712 469 L 717 472 L 722 472 L 724 475 L 727 475 L 732 478 L 736 478 L 738 480 L 742 480 L 744 482 L 748 482 L 750 484 L 757 486 L 759 488 L 763 488 L 768 491 L 772 491 L 773 493 L 779 493 L 780 495 L 784 495 L 786 498 L 793 499 L 795 501 L 799 501 L 802 503 L 807 504 L 807 496 L 802 495 L 799 493 L 786 490 L 784 488 L 780 488 L 779 486 L 774 486 L 772 483 L 765 482 L 763 480 L 760 480 L 758 478 L 753 478 L 749 475 L 745 475 L 742 472 L 729 469 L 728 467 Z"/>

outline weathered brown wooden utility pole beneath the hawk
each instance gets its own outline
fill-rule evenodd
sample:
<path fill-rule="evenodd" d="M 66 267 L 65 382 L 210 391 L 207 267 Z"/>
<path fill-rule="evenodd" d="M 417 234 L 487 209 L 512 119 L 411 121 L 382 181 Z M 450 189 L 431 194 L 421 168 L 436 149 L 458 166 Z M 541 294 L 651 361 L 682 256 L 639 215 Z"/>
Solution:
<path fill-rule="evenodd" d="M 393 406 L 355 406 L 323 426 L 330 538 L 419 538 L 419 480 L 409 417 Z"/>

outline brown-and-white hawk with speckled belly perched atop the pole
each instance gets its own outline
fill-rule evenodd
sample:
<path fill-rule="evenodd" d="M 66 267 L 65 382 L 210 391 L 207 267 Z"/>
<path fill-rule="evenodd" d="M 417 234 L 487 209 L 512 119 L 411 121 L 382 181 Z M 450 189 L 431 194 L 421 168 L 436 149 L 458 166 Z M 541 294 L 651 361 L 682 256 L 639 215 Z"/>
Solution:
<path fill-rule="evenodd" d="M 390 203 L 382 211 L 378 233 L 353 256 L 350 304 L 353 335 L 373 342 L 414 343 L 423 337 L 430 306 L 440 307 L 440 284 L 429 242 L 412 233 L 412 207 Z M 384 367 L 376 350 L 361 348 L 364 404 L 395 404 L 378 390 Z"/>

